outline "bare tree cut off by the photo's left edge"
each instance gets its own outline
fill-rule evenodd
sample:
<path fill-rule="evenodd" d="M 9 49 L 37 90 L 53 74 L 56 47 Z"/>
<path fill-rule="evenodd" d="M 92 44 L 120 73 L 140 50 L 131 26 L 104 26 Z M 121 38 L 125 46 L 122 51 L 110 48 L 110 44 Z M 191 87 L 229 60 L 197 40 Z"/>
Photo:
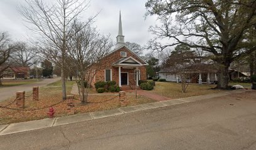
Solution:
<path fill-rule="evenodd" d="M 9 67 L 9 58 L 13 51 L 14 46 L 11 45 L 8 33 L 0 31 L 0 85 L 3 71 Z"/>

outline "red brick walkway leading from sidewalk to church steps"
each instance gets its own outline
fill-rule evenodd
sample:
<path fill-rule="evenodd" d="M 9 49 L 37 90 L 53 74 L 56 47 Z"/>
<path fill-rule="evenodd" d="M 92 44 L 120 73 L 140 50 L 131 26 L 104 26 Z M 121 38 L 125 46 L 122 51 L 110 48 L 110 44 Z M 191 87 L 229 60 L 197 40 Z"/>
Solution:
<path fill-rule="evenodd" d="M 135 90 L 125 90 L 126 92 L 129 92 L 129 93 L 136 93 Z M 137 94 L 141 95 L 141 96 L 145 96 L 147 98 L 151 98 L 151 99 L 154 99 L 156 101 L 166 101 L 166 100 L 170 100 L 171 98 L 168 98 L 168 97 L 165 97 L 165 96 L 161 96 L 161 95 L 158 95 L 158 94 L 155 94 L 155 93 L 151 93 L 150 91 L 145 91 L 145 90 L 142 90 L 142 89 L 138 89 L 137 90 Z"/>

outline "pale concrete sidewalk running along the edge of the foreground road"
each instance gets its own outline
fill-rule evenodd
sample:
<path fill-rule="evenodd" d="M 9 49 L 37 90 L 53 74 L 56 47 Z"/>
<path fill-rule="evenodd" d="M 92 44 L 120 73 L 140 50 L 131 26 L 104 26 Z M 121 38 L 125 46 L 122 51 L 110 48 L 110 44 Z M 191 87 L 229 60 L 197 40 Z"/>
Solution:
<path fill-rule="evenodd" d="M 31 131 L 35 129 L 49 128 L 53 126 L 61 126 L 64 124 L 90 121 L 92 119 L 107 118 L 109 116 L 117 116 L 120 114 L 132 113 L 136 111 L 144 111 L 146 109 L 162 108 L 162 107 L 176 105 L 176 104 L 190 103 L 193 101 L 217 98 L 220 96 L 227 96 L 235 93 L 245 93 L 245 91 L 244 90 L 227 91 L 225 93 L 207 94 L 202 96 L 193 96 L 190 98 L 172 99 L 172 100 L 160 101 L 156 103 L 147 103 L 147 104 L 141 104 L 136 106 L 127 106 L 125 108 L 110 109 L 106 111 L 96 111 L 92 113 L 63 116 L 60 118 L 41 119 L 41 120 L 27 121 L 22 123 L 4 124 L 4 125 L 0 125 L 0 136 L 6 135 L 6 134 L 21 133 L 24 131 Z"/>

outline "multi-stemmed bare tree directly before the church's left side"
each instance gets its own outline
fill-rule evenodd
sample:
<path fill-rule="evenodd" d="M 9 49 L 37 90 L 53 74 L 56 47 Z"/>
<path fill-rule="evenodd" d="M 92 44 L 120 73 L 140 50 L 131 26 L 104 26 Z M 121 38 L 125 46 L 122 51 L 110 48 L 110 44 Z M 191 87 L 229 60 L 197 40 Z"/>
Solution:
<path fill-rule="evenodd" d="M 88 88 L 97 73 L 97 69 L 92 69 L 92 66 L 97 66 L 113 44 L 110 36 L 101 36 L 90 24 L 85 26 L 85 23 L 75 22 L 73 32 L 74 36 L 68 41 L 68 55 L 74 72 L 78 73 L 80 99 L 82 103 L 86 103 Z"/>

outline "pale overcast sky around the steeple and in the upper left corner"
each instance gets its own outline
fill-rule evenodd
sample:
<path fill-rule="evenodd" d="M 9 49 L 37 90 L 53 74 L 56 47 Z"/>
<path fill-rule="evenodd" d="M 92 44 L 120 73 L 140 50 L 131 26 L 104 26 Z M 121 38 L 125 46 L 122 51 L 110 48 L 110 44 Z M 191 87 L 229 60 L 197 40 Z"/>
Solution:
<path fill-rule="evenodd" d="M 142 46 L 152 37 L 149 26 L 156 24 L 156 17 L 145 19 L 145 2 L 147 0 L 92 0 L 90 8 L 83 13 L 83 18 L 97 14 L 95 26 L 102 34 L 110 34 L 115 41 L 118 31 L 119 10 L 122 14 L 122 28 L 125 41 L 136 42 Z M 0 30 L 8 31 L 14 40 L 26 41 L 31 31 L 26 28 L 18 6 L 24 0 L 0 0 Z M 32 34 L 33 35 L 33 34 Z"/>

